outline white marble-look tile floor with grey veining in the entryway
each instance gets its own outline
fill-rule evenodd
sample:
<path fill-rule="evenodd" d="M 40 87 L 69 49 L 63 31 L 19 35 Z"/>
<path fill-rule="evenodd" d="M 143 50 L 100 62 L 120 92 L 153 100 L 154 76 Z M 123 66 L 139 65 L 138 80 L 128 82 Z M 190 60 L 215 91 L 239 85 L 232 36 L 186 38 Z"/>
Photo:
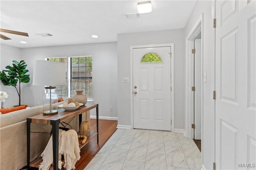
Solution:
<path fill-rule="evenodd" d="M 85 170 L 200 170 L 201 152 L 182 133 L 117 129 Z"/>

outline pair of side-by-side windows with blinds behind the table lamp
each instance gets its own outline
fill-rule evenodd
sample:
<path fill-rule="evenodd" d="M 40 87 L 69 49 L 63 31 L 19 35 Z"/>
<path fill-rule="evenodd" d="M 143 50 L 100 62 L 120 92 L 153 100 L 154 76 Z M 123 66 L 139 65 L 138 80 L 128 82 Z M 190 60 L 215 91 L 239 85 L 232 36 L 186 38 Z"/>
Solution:
<path fill-rule="evenodd" d="M 92 56 L 48 58 L 49 61 L 66 63 L 67 86 L 56 86 L 58 97 L 76 95 L 83 90 L 88 100 L 92 100 Z"/>

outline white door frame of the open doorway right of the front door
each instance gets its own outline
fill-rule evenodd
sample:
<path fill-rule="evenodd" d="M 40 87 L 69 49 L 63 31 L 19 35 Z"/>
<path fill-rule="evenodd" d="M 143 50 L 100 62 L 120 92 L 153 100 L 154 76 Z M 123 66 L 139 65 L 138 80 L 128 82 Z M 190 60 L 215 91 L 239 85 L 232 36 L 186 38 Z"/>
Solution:
<path fill-rule="evenodd" d="M 195 23 L 194 27 L 186 37 L 186 137 L 188 139 L 194 139 L 194 130 L 192 129 L 191 125 L 192 122 L 194 122 L 194 116 L 192 116 L 194 113 L 192 112 L 192 105 L 193 105 L 193 100 L 192 100 L 192 45 L 194 43 L 195 37 L 201 32 L 202 35 L 202 51 L 201 51 L 201 73 L 203 74 L 203 59 L 204 59 L 204 29 L 203 29 L 203 17 L 204 15 L 202 14 L 198 21 Z M 201 131 L 203 131 L 203 89 L 204 89 L 204 84 L 202 81 L 201 76 Z M 203 134 L 202 134 L 202 139 L 203 141 Z M 201 142 L 202 145 L 202 142 Z M 201 147 L 202 148 L 202 147 Z"/>

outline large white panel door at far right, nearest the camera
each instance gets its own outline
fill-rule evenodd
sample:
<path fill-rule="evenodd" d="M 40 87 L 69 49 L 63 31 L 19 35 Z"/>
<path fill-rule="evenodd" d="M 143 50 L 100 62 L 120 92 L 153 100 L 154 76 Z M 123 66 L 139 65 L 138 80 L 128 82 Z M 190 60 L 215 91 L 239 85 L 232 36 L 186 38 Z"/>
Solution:
<path fill-rule="evenodd" d="M 216 1 L 216 169 L 255 169 L 255 2 Z"/>

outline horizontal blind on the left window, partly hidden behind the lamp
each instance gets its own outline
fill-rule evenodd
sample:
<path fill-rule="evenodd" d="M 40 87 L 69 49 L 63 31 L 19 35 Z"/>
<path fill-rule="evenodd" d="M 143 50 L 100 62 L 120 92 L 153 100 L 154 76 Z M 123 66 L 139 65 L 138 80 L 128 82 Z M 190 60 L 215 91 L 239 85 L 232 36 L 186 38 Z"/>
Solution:
<path fill-rule="evenodd" d="M 61 62 L 61 63 L 65 63 L 65 64 L 67 63 L 66 57 L 48 58 L 47 60 Z M 67 66 L 66 66 L 66 70 L 67 70 Z M 67 86 L 56 86 L 55 92 L 58 95 L 58 98 L 66 98 L 68 96 Z"/>

